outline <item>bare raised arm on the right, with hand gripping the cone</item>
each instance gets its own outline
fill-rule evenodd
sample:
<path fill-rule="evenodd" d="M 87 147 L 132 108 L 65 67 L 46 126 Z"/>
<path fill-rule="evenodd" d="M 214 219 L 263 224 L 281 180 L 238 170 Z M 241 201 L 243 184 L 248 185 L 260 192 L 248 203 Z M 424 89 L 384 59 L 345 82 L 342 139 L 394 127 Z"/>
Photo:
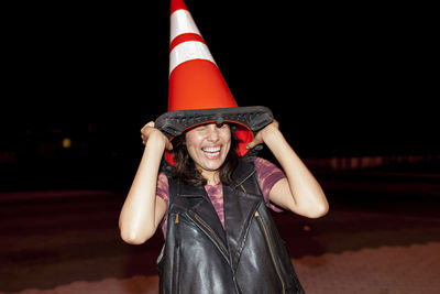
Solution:
<path fill-rule="evenodd" d="M 286 141 L 277 121 L 261 130 L 248 146 L 254 148 L 262 143 L 272 151 L 287 176 L 273 186 L 271 200 L 305 217 L 318 218 L 326 215 L 329 204 L 321 186 Z"/>

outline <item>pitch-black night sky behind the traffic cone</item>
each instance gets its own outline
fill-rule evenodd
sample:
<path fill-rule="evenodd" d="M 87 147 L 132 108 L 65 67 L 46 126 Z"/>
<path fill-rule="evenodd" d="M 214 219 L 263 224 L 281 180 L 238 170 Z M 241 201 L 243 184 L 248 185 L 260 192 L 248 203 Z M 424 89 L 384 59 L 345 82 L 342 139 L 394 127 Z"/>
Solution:
<path fill-rule="evenodd" d="M 11 9 L 2 128 L 92 122 L 110 143 L 138 143 L 167 101 L 169 3 L 151 2 Z M 270 107 L 302 154 L 438 153 L 429 18 L 380 4 L 186 3 L 239 105 Z"/>

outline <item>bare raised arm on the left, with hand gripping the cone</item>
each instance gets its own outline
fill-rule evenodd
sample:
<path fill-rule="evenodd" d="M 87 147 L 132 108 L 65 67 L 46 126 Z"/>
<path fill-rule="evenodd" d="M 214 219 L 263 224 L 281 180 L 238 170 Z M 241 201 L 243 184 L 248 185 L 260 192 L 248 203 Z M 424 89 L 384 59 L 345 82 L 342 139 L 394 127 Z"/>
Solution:
<path fill-rule="evenodd" d="M 141 130 L 145 149 L 119 217 L 121 238 L 141 244 L 156 231 L 166 211 L 165 202 L 156 196 L 157 174 L 165 148 L 173 146 L 154 122 Z"/>

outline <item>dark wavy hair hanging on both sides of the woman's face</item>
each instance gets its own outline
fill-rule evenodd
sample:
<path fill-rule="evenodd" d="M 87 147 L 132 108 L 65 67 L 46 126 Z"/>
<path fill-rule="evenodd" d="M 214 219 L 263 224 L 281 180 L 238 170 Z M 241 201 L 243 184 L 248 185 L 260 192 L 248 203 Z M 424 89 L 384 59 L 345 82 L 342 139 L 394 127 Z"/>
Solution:
<path fill-rule="evenodd" d="M 239 163 L 239 155 L 237 153 L 238 139 L 235 138 L 235 128 L 231 127 L 231 148 L 229 153 L 219 168 L 220 182 L 223 185 L 233 184 L 232 173 Z M 194 186 L 202 186 L 207 184 L 200 172 L 196 168 L 196 164 L 186 149 L 185 135 L 173 139 L 173 156 L 175 166 L 170 168 L 173 177 L 182 179 L 185 184 Z"/>

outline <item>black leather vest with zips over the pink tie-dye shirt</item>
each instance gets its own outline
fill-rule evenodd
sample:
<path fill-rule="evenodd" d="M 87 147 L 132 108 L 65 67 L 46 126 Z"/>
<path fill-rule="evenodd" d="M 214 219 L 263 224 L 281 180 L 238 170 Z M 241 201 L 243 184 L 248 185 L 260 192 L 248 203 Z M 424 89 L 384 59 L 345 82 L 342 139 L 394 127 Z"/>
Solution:
<path fill-rule="evenodd" d="M 160 293 L 304 293 L 260 189 L 252 159 L 223 186 L 224 230 L 204 186 L 168 177 Z"/>

